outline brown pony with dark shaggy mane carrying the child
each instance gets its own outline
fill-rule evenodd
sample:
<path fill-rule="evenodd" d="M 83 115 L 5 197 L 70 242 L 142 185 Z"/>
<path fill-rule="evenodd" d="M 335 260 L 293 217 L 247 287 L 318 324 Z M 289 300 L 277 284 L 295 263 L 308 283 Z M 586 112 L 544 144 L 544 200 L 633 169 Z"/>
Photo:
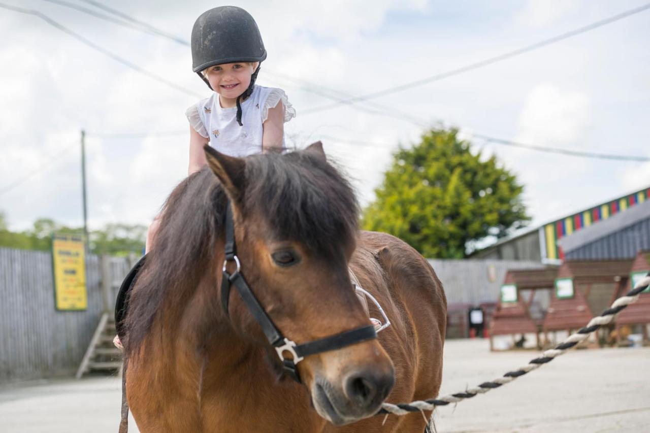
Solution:
<path fill-rule="evenodd" d="M 419 413 L 373 415 L 383 401 L 438 393 L 447 305 L 427 261 L 395 237 L 359 232 L 354 192 L 320 143 L 206 157 L 209 168 L 168 198 L 129 295 L 125 380 L 140 432 L 423 432 Z M 241 273 L 283 335 L 301 344 L 370 324 L 348 267 L 391 326 L 306 356 L 302 384 L 283 376 L 239 293 L 227 313 L 220 302 L 228 199 Z"/>

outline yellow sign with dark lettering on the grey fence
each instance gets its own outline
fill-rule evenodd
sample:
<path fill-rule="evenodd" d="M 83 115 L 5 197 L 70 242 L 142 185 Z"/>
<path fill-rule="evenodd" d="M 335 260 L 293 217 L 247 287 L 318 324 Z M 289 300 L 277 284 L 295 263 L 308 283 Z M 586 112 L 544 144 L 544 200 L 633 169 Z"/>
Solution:
<path fill-rule="evenodd" d="M 86 255 L 81 235 L 55 234 L 52 239 L 57 309 L 86 309 Z"/>

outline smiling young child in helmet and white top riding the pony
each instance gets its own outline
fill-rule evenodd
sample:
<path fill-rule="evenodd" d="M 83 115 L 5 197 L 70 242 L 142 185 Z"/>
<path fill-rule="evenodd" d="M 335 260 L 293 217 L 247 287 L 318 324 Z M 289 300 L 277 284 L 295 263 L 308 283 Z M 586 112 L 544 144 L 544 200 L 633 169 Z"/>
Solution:
<path fill-rule="evenodd" d="M 285 92 L 255 85 L 266 49 L 257 23 L 246 10 L 207 10 L 192 29 L 192 70 L 213 90 L 185 111 L 190 122 L 188 175 L 207 161 L 203 145 L 244 157 L 285 147 L 284 124 L 296 116 Z M 158 215 L 147 232 L 146 251 L 155 244 Z M 120 338 L 114 343 L 122 348 Z"/>

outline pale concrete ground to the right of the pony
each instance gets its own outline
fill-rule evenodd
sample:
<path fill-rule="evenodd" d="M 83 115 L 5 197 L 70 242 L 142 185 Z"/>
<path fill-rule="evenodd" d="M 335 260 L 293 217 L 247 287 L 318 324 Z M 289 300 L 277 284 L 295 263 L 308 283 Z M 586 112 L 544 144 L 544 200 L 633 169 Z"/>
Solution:
<path fill-rule="evenodd" d="M 448 341 L 441 395 L 516 369 L 534 350 L 490 353 L 487 341 Z M 571 350 L 456 409 L 437 410 L 439 432 L 648 432 L 650 348 Z"/>

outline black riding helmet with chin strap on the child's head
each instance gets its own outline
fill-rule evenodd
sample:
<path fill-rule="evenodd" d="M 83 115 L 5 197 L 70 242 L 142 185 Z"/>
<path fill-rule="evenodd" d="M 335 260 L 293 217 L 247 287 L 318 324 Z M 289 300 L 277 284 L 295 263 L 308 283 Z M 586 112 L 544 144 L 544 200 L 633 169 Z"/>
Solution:
<path fill-rule="evenodd" d="M 224 63 L 262 62 L 266 49 L 257 23 L 246 10 L 236 6 L 221 6 L 207 10 L 196 19 L 192 28 L 192 70 L 211 89 L 201 71 Z M 253 93 L 259 64 L 250 77 L 250 85 L 237 98 L 237 123 L 242 125 L 241 100 Z"/>

